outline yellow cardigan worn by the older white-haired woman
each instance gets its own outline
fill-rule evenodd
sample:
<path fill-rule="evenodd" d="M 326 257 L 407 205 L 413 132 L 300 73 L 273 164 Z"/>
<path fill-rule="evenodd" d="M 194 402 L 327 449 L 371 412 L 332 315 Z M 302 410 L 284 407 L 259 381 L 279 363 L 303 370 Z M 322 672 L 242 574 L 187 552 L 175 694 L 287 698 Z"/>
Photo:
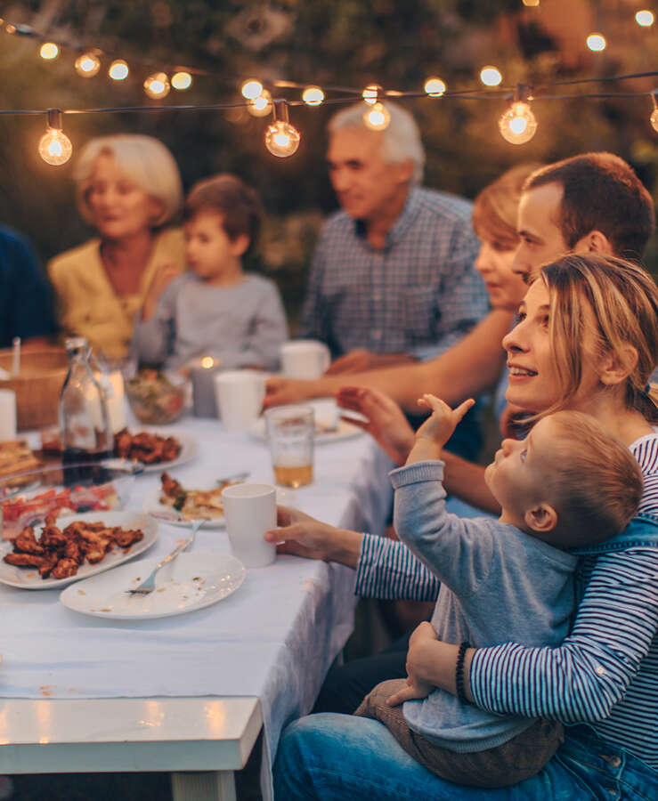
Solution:
<path fill-rule="evenodd" d="M 161 264 L 185 264 L 183 231 L 169 228 L 154 239 L 139 292 L 117 295 L 101 259 L 101 239 L 90 239 L 55 256 L 48 276 L 57 297 L 61 330 L 85 336 L 110 359 L 126 356 L 133 337 L 134 318 L 142 308 L 153 273 Z"/>

